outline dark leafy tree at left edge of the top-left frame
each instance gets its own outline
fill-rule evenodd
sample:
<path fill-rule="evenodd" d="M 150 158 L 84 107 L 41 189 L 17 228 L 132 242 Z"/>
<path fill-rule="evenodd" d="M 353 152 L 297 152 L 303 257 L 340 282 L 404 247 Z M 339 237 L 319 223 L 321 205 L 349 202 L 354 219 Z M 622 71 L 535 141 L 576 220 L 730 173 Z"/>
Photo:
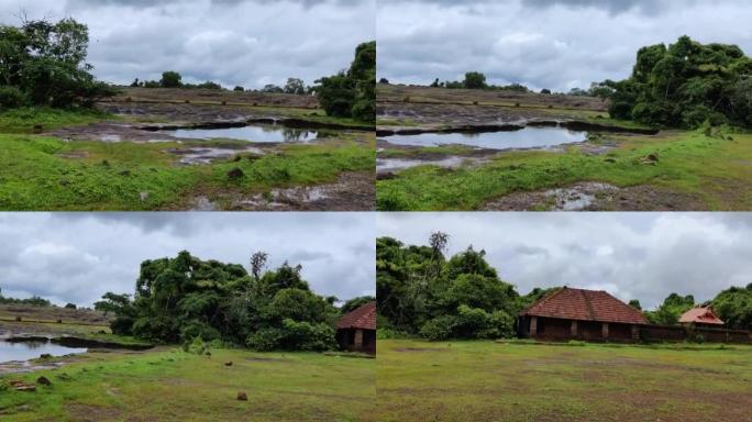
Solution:
<path fill-rule="evenodd" d="M 115 91 L 89 73 L 89 31 L 73 19 L 0 25 L 0 109 L 91 107 Z"/>

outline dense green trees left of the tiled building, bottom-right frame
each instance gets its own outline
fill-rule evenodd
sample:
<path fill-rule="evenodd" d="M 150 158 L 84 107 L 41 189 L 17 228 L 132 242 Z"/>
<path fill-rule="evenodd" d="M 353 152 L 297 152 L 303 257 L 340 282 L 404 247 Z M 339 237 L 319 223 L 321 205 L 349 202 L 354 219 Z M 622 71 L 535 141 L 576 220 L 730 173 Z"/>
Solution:
<path fill-rule="evenodd" d="M 554 290 L 520 296 L 484 251 L 469 246 L 446 259 L 447 238 L 434 233 L 428 246 L 377 240 L 376 297 L 386 327 L 430 340 L 510 337 L 519 311 Z"/>

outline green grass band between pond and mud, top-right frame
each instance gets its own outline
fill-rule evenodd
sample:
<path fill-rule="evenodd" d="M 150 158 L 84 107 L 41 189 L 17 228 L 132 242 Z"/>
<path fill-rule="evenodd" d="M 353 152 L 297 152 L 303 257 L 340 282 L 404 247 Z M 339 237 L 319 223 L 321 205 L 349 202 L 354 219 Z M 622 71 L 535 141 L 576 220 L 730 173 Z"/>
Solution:
<path fill-rule="evenodd" d="M 608 157 L 577 147 L 566 153 L 511 152 L 478 167 L 445 169 L 421 166 L 379 180 L 377 208 L 383 211 L 474 210 L 516 191 L 534 191 L 577 181 L 619 187 L 655 185 L 699 197 L 708 210 L 752 209 L 752 134 L 733 141 L 700 132 L 672 132 L 659 137 L 619 136 Z M 656 166 L 640 158 L 657 153 Z M 605 158 L 613 158 L 609 163 Z"/>

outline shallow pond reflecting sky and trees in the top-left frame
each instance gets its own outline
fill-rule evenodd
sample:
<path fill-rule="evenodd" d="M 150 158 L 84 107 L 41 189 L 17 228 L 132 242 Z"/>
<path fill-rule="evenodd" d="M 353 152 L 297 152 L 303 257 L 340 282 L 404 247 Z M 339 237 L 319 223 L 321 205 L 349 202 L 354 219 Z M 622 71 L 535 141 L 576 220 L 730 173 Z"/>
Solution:
<path fill-rule="evenodd" d="M 248 142 L 279 143 L 302 142 L 307 143 L 319 136 L 317 131 L 310 129 L 286 127 L 276 124 L 256 124 L 241 127 L 221 129 L 178 129 L 164 131 L 170 136 L 188 140 L 240 140 Z"/>

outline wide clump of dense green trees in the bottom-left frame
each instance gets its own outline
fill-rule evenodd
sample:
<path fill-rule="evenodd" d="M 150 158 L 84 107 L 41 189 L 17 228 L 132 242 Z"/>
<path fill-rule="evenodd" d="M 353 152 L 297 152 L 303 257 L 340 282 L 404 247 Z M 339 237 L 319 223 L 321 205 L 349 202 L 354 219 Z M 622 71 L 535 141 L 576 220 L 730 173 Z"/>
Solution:
<path fill-rule="evenodd" d="M 133 299 L 108 292 L 95 308 L 114 313 L 112 332 L 153 342 L 222 340 L 256 349 L 334 346 L 334 298 L 312 292 L 301 267 L 264 271 L 265 254 L 241 265 L 201 260 L 188 252 L 145 260 Z"/>

